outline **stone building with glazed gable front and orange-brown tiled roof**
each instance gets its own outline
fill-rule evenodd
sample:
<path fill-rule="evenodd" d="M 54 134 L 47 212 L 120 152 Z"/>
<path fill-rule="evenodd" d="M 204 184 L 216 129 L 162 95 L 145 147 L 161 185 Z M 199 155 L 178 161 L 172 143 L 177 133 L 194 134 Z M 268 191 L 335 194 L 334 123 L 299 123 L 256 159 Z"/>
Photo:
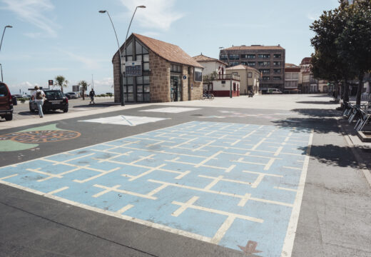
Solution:
<path fill-rule="evenodd" d="M 123 76 L 118 51 L 112 59 L 115 102 L 122 96 L 126 102 L 151 103 L 202 98 L 203 66 L 179 46 L 131 34 L 121 56 Z"/>

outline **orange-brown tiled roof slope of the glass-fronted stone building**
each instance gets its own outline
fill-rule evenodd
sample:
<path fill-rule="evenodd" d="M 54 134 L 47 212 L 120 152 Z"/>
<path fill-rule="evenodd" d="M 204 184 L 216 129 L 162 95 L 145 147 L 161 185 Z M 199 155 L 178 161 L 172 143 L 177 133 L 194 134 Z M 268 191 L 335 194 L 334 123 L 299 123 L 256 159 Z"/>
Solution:
<path fill-rule="evenodd" d="M 145 44 L 148 49 L 151 49 L 151 51 L 167 61 L 203 68 L 203 66 L 198 64 L 197 61 L 186 54 L 185 51 L 183 51 L 179 46 L 157 39 L 152 39 L 148 36 L 142 36 L 134 33 L 133 35 L 136 36 L 136 38 L 139 39 L 143 44 Z"/>

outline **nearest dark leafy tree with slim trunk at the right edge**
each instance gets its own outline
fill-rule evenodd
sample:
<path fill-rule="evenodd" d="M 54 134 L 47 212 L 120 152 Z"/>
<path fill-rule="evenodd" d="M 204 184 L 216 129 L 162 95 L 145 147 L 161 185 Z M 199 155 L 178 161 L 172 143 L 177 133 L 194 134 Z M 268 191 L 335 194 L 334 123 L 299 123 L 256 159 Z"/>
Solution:
<path fill-rule="evenodd" d="M 344 9 L 345 26 L 337 37 L 337 49 L 357 70 L 356 105 L 360 106 L 363 78 L 371 70 L 371 1 L 357 0 Z"/>

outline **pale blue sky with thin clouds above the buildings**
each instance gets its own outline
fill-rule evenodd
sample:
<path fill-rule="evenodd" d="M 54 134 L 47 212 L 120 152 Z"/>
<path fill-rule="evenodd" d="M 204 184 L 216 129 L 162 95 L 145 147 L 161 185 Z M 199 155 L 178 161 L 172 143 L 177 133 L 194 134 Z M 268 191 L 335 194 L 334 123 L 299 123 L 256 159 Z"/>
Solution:
<path fill-rule="evenodd" d="M 309 26 L 337 0 L 0 0 L 0 64 L 12 94 L 47 87 L 62 75 L 68 88 L 92 84 L 96 94 L 113 92 L 112 56 L 136 6 L 131 33 L 180 46 L 190 56 L 218 59 L 219 47 L 280 44 L 286 63 L 312 54 Z M 93 79 L 92 79 L 93 78 Z M 0 78 L 1 79 L 1 78 Z M 91 87 L 89 86 L 88 89 Z"/>

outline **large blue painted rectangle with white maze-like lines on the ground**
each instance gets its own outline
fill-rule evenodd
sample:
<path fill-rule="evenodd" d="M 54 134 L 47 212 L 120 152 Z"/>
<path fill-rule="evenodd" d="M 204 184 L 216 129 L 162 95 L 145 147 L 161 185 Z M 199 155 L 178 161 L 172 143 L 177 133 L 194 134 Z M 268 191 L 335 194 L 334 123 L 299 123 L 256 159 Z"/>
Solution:
<path fill-rule="evenodd" d="M 131 205 L 123 215 L 237 250 L 255 241 L 258 255 L 280 256 L 309 137 L 303 129 L 193 121 L 6 166 L 0 178 L 44 193 L 67 186 L 54 195 L 112 212 Z M 257 183 L 260 174 L 269 176 Z M 218 238 L 228 215 L 263 222 L 235 218 Z"/>

